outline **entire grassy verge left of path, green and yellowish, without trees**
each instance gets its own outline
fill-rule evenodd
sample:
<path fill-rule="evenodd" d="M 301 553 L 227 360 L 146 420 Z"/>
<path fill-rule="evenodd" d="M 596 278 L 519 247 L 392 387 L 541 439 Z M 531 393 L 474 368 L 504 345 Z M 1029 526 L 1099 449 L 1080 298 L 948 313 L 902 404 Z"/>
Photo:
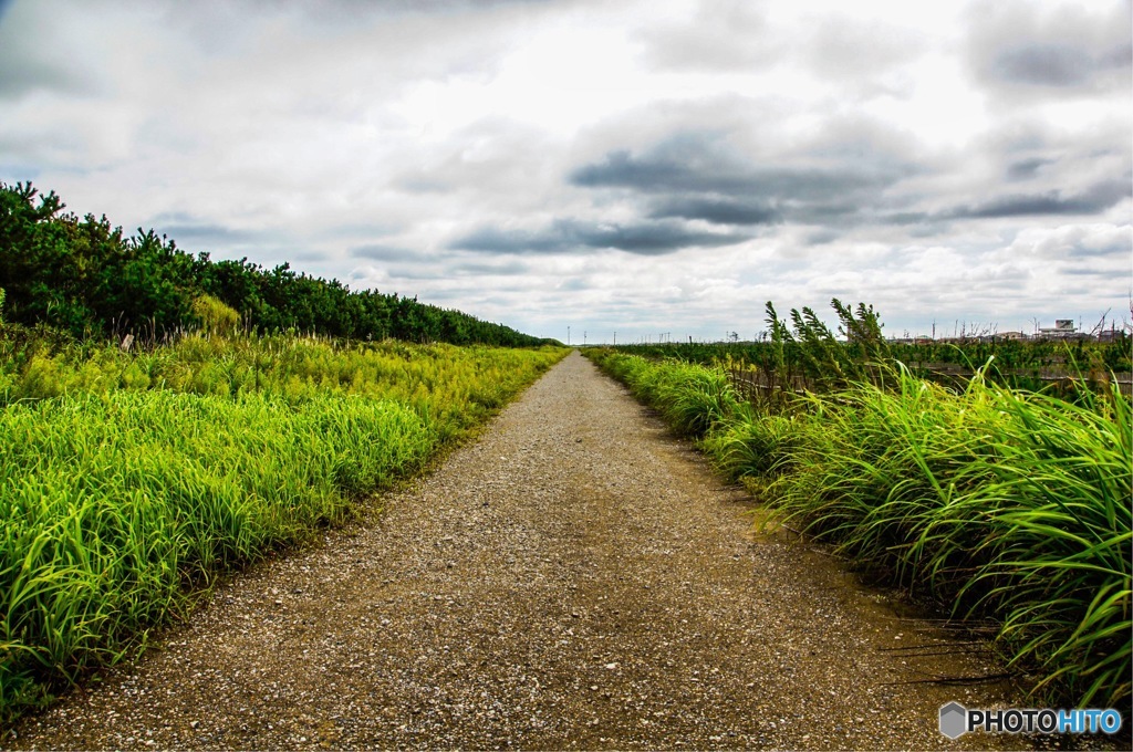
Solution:
<path fill-rule="evenodd" d="M 565 353 L 286 337 L 137 356 L 7 347 L 0 721 L 135 653 L 219 574 L 341 521 Z"/>

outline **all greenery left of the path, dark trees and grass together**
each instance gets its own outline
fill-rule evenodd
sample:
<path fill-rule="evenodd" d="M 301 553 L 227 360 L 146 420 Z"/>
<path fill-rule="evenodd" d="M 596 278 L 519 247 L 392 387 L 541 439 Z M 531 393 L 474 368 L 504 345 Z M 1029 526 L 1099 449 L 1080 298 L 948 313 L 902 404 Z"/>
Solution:
<path fill-rule="evenodd" d="M 62 208 L 0 183 L 0 726 L 420 471 L 566 353 Z"/>

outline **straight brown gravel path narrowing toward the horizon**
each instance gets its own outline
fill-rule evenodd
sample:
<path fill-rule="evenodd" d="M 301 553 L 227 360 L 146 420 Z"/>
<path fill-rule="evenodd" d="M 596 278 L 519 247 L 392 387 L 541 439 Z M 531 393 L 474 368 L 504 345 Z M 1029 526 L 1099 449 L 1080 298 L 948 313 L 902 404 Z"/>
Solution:
<path fill-rule="evenodd" d="M 22 747 L 932 749 L 1003 687 L 571 354 L 373 524 L 221 587 Z M 939 652 L 939 650 L 934 650 Z"/>

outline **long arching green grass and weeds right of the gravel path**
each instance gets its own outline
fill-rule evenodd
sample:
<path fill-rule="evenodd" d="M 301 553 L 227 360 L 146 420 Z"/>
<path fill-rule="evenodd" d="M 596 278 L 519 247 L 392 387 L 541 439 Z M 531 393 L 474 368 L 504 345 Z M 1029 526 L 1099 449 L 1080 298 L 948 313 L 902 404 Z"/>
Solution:
<path fill-rule="evenodd" d="M 1012 387 L 994 361 L 942 385 L 892 358 L 872 309 L 834 308 L 849 343 L 812 314 L 792 311 L 789 325 L 768 305 L 773 367 L 790 348 L 813 390 L 766 371 L 772 387 L 752 390 L 751 364 L 588 356 L 778 520 L 956 619 L 991 624 L 1037 699 L 1127 704 L 1128 396 L 1106 377 Z"/>

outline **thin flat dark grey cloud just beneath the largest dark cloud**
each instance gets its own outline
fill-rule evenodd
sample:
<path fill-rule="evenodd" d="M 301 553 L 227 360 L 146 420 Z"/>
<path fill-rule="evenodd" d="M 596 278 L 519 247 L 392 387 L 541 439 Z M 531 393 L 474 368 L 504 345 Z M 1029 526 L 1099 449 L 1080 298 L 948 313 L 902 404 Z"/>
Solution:
<path fill-rule="evenodd" d="M 732 246 L 747 236 L 690 230 L 681 222 L 598 224 L 556 220 L 536 231 L 480 228 L 450 243 L 450 248 L 511 254 L 557 254 L 579 248 L 616 248 L 641 256 L 661 256 L 695 246 Z"/>

